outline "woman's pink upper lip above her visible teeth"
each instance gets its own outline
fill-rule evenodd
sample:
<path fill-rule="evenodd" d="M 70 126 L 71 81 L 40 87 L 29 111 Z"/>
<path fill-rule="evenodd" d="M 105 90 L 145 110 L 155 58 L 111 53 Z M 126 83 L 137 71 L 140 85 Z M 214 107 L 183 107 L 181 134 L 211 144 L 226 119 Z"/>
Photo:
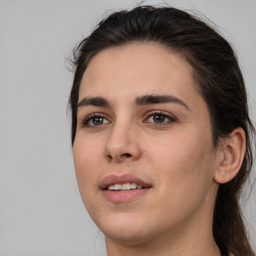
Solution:
<path fill-rule="evenodd" d="M 141 185 L 142 187 L 151 186 L 150 184 L 146 183 L 145 181 L 131 174 L 122 174 L 122 175 L 111 174 L 106 176 L 102 180 L 99 187 L 100 189 L 105 189 L 108 185 L 123 184 L 126 182 L 131 182 L 131 183 L 134 182 L 137 185 Z"/>

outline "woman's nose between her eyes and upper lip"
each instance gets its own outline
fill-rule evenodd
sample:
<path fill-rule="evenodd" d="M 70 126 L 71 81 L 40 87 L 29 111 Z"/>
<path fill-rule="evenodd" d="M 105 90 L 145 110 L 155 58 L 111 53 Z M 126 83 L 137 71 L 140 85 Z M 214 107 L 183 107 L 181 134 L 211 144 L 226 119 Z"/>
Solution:
<path fill-rule="evenodd" d="M 137 160 L 141 156 L 135 127 L 128 123 L 115 123 L 109 131 L 104 148 L 104 157 L 109 162 Z"/>

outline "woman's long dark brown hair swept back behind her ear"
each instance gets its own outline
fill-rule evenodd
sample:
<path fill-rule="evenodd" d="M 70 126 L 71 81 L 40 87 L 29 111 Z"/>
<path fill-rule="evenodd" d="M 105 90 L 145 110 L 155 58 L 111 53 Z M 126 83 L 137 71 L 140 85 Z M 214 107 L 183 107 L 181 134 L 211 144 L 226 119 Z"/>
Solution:
<path fill-rule="evenodd" d="M 90 59 L 102 49 L 153 43 L 182 56 L 193 69 L 197 90 L 207 104 L 214 148 L 236 127 L 246 135 L 246 151 L 237 175 L 219 184 L 212 232 L 222 255 L 253 255 L 239 197 L 252 168 L 254 127 L 248 115 L 246 90 L 237 57 L 215 29 L 189 13 L 170 6 L 137 6 L 110 14 L 73 50 L 73 85 L 69 97 L 71 143 L 77 125 L 78 92 Z"/>

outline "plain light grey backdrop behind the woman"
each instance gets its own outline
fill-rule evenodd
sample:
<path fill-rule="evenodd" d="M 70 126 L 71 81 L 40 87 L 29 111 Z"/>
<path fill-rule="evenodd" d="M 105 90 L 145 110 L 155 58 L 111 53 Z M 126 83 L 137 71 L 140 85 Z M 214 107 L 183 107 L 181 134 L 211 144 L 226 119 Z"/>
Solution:
<path fill-rule="evenodd" d="M 234 45 L 255 121 L 256 0 L 166 2 L 203 13 Z M 0 256 L 105 255 L 103 235 L 76 185 L 66 116 L 72 74 L 65 56 L 106 10 L 138 3 L 0 0 Z M 256 189 L 246 198 L 255 248 Z"/>

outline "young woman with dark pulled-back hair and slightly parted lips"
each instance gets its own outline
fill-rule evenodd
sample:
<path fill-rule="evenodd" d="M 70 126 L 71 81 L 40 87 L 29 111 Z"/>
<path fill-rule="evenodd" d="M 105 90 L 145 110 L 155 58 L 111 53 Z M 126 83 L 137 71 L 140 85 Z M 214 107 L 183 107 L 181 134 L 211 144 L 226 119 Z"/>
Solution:
<path fill-rule="evenodd" d="M 254 128 L 229 43 L 138 6 L 102 20 L 74 67 L 75 172 L 107 255 L 253 255 L 238 199 Z"/>

